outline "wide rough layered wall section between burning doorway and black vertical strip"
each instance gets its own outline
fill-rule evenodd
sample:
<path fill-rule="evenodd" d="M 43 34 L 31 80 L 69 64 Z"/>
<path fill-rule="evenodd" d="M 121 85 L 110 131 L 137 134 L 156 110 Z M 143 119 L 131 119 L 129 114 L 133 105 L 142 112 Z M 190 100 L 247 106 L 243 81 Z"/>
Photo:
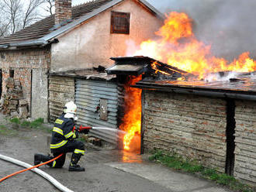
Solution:
<path fill-rule="evenodd" d="M 144 150 L 161 149 L 225 172 L 226 101 L 144 91 Z"/>

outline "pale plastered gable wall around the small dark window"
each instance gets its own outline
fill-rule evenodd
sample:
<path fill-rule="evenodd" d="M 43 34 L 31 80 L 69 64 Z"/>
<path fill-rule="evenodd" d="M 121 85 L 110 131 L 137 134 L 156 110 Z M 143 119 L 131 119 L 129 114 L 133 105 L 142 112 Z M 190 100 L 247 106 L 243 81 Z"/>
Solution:
<path fill-rule="evenodd" d="M 111 11 L 130 12 L 130 35 L 110 33 Z M 137 44 L 154 36 L 161 20 L 133 0 L 126 0 L 102 12 L 52 45 L 51 71 L 109 67 L 110 57 L 126 56 L 127 41 Z"/>

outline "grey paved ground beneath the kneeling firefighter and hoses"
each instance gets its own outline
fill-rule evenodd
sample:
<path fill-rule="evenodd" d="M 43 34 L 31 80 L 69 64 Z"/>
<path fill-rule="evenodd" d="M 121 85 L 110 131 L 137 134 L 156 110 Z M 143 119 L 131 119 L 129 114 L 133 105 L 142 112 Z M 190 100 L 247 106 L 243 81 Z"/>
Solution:
<path fill-rule="evenodd" d="M 46 125 L 51 130 L 52 125 Z M 33 165 L 34 153 L 50 153 L 51 133 L 14 125 L 0 115 L 0 154 Z M 112 146 L 93 146 L 85 142 L 85 156 L 79 164 L 85 172 L 69 172 L 71 154 L 62 169 L 40 166 L 58 182 L 73 191 L 86 192 L 227 192 L 223 187 L 165 166 L 148 162 L 148 155 L 126 153 Z M 0 159 L 0 179 L 23 167 Z M 32 171 L 10 177 L 0 183 L 0 191 L 60 191 Z"/>

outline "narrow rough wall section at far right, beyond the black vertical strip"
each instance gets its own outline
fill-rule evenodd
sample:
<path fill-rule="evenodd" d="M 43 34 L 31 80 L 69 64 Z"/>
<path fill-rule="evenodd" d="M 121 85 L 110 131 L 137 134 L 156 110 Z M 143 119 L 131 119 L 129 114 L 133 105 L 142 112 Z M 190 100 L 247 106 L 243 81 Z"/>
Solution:
<path fill-rule="evenodd" d="M 256 186 L 256 102 L 236 101 L 234 177 Z"/>

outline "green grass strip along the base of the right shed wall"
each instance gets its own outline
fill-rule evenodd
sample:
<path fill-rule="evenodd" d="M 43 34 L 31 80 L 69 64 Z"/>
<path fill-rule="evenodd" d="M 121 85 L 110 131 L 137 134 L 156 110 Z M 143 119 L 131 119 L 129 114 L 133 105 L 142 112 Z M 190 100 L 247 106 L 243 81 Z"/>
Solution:
<path fill-rule="evenodd" d="M 194 173 L 200 177 L 204 177 L 208 180 L 213 180 L 216 183 L 229 187 L 231 190 L 240 192 L 254 192 L 254 190 L 246 184 L 240 183 L 234 177 L 225 173 L 219 173 L 216 170 L 208 169 L 199 165 L 196 161 L 184 159 L 177 154 L 164 154 L 161 151 L 154 151 L 152 156 L 149 157 L 150 161 L 162 163 L 172 169 L 179 170 L 185 173 Z"/>

